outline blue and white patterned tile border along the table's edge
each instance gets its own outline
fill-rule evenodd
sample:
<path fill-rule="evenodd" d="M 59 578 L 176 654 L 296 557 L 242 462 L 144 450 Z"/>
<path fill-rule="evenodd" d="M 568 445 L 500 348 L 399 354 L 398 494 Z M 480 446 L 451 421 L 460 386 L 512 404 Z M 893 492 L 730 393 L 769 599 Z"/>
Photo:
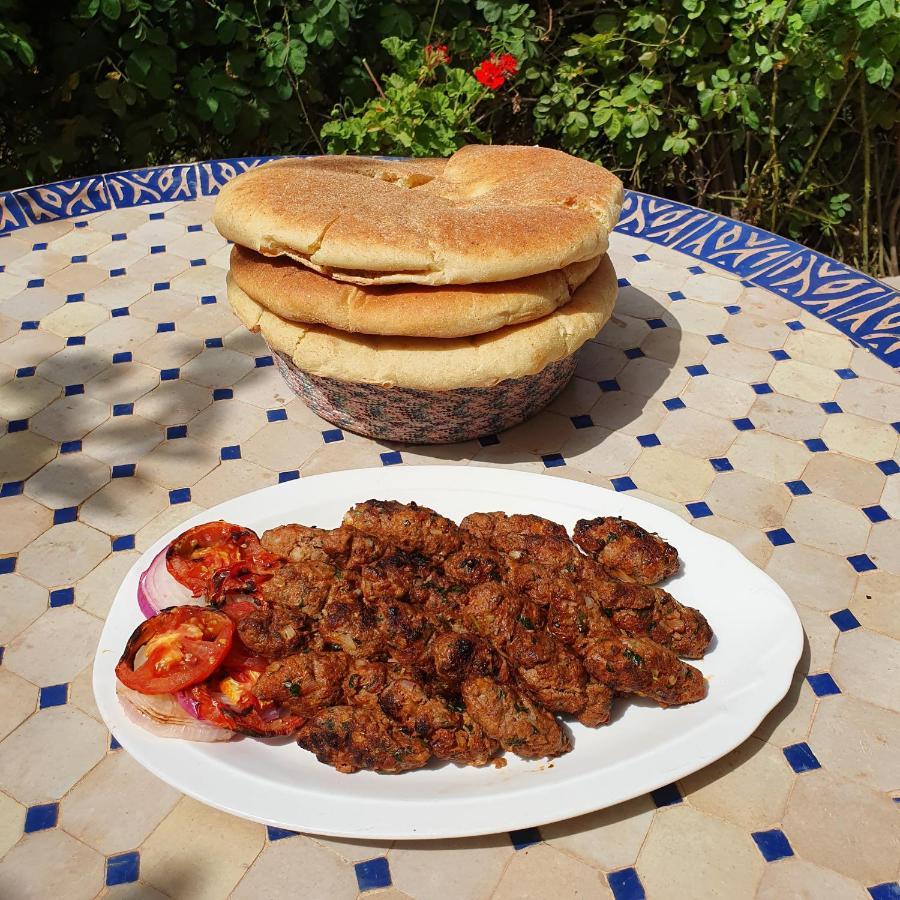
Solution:
<path fill-rule="evenodd" d="M 218 194 L 275 157 L 135 169 L 0 193 L 0 235 L 71 216 Z M 670 247 L 765 288 L 900 367 L 900 294 L 787 238 L 693 206 L 627 191 L 617 231 Z"/>

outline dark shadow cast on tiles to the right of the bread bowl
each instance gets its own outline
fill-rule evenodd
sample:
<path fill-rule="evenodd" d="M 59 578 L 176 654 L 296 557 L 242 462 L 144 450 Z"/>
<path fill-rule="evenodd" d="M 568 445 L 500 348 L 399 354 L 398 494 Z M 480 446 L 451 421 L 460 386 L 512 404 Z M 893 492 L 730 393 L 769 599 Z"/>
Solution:
<path fill-rule="evenodd" d="M 634 287 L 620 291 L 613 318 L 594 341 L 578 352 L 575 377 L 547 408 L 534 418 L 499 435 L 458 444 L 412 445 L 378 442 L 399 450 L 415 462 L 476 464 L 534 463 L 536 457 L 563 452 L 570 464 L 591 471 L 591 456 L 603 443 L 644 415 L 651 398 L 677 396 L 682 383 L 660 391 L 678 364 L 682 331 L 677 320 L 659 301 Z M 682 364 L 683 364 L 682 360 Z M 658 400 L 653 403 L 658 406 Z M 647 427 L 629 434 L 652 433 L 659 424 L 648 416 Z M 632 459 L 622 460 L 621 472 Z M 606 472 L 615 469 L 604 458 Z M 611 474 L 620 474 L 619 471 Z"/>

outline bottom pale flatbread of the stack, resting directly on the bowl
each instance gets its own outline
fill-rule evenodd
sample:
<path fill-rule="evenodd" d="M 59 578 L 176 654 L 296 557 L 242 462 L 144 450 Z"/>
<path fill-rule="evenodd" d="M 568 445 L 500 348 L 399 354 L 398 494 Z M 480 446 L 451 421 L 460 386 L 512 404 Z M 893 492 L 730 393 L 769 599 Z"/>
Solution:
<path fill-rule="evenodd" d="M 617 292 L 615 270 L 604 256 L 572 300 L 542 319 L 468 338 L 410 338 L 288 322 L 228 278 L 228 300 L 238 318 L 304 372 L 425 391 L 491 387 L 542 371 L 597 334 L 612 314 Z"/>

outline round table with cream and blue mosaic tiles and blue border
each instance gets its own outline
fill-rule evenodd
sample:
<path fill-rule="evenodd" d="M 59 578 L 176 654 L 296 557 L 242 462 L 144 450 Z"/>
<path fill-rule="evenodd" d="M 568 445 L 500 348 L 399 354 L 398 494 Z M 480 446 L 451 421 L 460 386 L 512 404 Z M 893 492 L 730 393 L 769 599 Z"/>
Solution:
<path fill-rule="evenodd" d="M 228 310 L 210 195 L 256 162 L 0 195 L 0 896 L 896 898 L 897 294 L 631 194 L 615 321 L 546 412 L 462 445 L 379 444 L 306 410 Z M 143 548 L 279 480 L 433 462 L 633 491 L 733 542 L 803 620 L 788 696 L 651 796 L 428 845 L 267 830 L 119 749 L 90 666 Z"/>

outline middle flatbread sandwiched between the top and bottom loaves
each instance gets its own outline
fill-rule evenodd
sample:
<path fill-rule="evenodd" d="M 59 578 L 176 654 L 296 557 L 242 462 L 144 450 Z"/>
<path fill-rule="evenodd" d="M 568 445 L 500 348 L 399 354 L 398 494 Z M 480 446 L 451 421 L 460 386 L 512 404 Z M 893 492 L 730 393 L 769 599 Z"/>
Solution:
<path fill-rule="evenodd" d="M 479 285 L 363 286 L 235 244 L 231 277 L 257 303 L 291 322 L 362 334 L 450 338 L 546 316 L 568 303 L 599 263 L 589 259 L 556 272 Z"/>

